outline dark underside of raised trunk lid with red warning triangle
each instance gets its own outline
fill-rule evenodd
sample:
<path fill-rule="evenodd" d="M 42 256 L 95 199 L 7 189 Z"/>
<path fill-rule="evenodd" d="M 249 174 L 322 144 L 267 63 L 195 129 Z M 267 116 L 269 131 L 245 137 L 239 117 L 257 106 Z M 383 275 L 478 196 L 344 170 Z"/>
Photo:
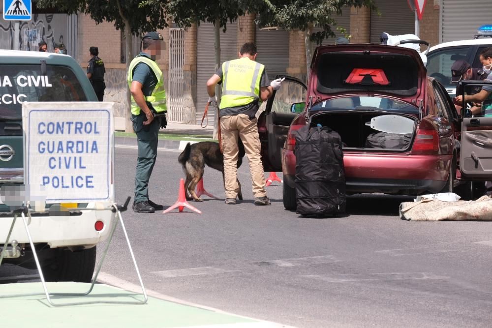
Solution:
<path fill-rule="evenodd" d="M 360 81 L 354 72 L 364 73 Z M 331 52 L 322 54 L 317 64 L 318 92 L 361 91 L 389 92 L 411 96 L 417 93 L 419 67 L 414 58 L 402 54 L 367 52 Z M 352 75 L 351 75 L 352 74 Z M 378 81 L 383 78 L 384 83 Z"/>

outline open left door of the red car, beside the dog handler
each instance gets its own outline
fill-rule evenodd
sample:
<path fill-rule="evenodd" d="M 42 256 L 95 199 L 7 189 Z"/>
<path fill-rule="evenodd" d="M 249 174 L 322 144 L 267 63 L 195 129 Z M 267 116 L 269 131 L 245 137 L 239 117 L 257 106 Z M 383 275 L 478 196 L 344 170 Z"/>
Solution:
<path fill-rule="evenodd" d="M 277 75 L 278 78 L 285 80 L 280 89 L 274 90 L 265 110 L 258 117 L 261 159 L 265 172 L 282 171 L 281 150 L 289 126 L 298 115 L 291 111 L 292 104 L 306 102 L 307 87 L 301 80 L 284 75 Z"/>

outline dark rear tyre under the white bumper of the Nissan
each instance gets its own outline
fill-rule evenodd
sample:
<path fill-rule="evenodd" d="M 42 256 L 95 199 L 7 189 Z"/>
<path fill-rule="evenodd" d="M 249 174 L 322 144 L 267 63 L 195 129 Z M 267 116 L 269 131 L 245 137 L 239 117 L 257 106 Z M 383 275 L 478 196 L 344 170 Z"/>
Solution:
<path fill-rule="evenodd" d="M 72 252 L 55 248 L 53 260 L 43 267 L 46 281 L 91 282 L 96 260 L 96 247 Z"/>

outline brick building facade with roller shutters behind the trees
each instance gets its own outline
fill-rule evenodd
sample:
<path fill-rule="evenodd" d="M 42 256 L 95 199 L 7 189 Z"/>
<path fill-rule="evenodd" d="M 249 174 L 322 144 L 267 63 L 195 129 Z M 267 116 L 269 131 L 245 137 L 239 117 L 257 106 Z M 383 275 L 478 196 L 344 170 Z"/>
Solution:
<path fill-rule="evenodd" d="M 379 43 L 382 32 L 407 34 L 415 32 L 415 14 L 407 0 L 375 0 L 378 12 L 367 8 L 344 8 L 337 17 L 338 25 L 350 35 L 351 43 Z M 1 4 L 0 4 L 1 5 Z M 492 23 L 491 0 L 428 0 L 420 21 L 420 38 L 431 45 L 441 42 L 471 39 L 480 25 Z M 245 42 L 255 42 L 257 60 L 266 66 L 270 79 L 287 74 L 306 81 L 306 47 L 304 33 L 277 29 L 259 29 L 254 15 L 248 14 L 228 24 L 220 33 L 221 62 L 237 58 Z M 314 28 L 316 32 L 319 28 Z M 202 22 L 188 29 L 160 30 L 165 49 L 158 64 L 168 86 L 168 120 L 199 123 L 208 99 L 206 81 L 214 73 L 214 26 Z M 337 31 L 337 36 L 344 34 Z M 126 104 L 126 61 L 124 37 L 112 23 L 96 24 L 87 15 L 35 13 L 30 22 L 0 19 L 0 48 L 37 50 L 40 40 L 52 51 L 55 43 L 63 42 L 68 55 L 87 67 L 89 48 L 99 48 L 99 57 L 106 66 L 104 99 L 117 103 L 117 129 L 124 129 Z M 140 44 L 138 37 L 133 54 Z M 335 38 L 323 41 L 333 44 Z"/>

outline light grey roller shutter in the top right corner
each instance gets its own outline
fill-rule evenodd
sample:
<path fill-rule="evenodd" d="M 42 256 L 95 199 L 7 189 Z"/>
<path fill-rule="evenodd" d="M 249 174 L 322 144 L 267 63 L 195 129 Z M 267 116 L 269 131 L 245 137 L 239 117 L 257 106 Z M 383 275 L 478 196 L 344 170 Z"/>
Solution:
<path fill-rule="evenodd" d="M 442 0 L 441 42 L 473 39 L 481 25 L 491 23 L 491 0 Z"/>

